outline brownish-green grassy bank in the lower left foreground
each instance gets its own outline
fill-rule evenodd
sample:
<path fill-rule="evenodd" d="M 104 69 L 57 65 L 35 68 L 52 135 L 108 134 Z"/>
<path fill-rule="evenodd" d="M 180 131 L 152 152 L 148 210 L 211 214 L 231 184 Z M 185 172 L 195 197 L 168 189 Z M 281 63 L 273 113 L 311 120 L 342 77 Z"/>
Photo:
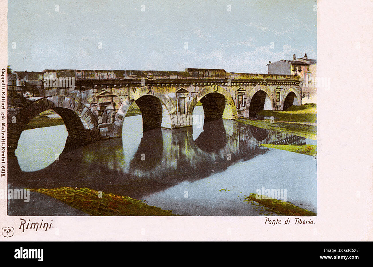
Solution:
<path fill-rule="evenodd" d="M 46 194 L 94 216 L 177 216 L 171 210 L 162 210 L 141 200 L 101 193 L 90 188 L 39 188 L 30 191 Z"/>

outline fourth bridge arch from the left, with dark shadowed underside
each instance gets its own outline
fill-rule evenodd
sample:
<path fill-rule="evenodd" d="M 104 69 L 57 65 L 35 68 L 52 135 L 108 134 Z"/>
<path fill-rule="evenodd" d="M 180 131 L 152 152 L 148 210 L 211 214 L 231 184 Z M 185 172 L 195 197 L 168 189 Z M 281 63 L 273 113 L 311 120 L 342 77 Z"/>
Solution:
<path fill-rule="evenodd" d="M 273 108 L 273 97 L 272 93 L 266 86 L 255 86 L 249 92 L 248 99 L 246 101 L 245 117 L 254 117 L 256 113 L 264 109 L 265 101 L 269 99 L 270 108 Z"/>

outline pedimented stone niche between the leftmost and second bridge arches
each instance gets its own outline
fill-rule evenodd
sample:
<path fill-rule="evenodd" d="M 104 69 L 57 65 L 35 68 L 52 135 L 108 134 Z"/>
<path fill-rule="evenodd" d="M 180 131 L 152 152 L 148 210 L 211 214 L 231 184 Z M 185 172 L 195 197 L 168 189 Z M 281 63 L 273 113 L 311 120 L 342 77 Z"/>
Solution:
<path fill-rule="evenodd" d="M 102 118 L 102 123 L 113 123 L 115 120 L 115 98 L 111 92 L 104 91 L 97 94 L 97 113 Z"/>

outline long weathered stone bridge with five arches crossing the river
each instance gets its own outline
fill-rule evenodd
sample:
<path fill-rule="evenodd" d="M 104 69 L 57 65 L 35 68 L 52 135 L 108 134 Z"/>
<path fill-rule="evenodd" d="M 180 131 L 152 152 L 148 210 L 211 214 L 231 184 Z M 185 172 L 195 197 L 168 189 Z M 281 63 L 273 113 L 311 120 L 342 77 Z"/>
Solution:
<path fill-rule="evenodd" d="M 191 125 L 185 118 L 192 118 L 198 102 L 205 122 L 300 105 L 299 84 L 297 76 L 219 69 L 12 71 L 7 90 L 8 156 L 14 156 L 26 124 L 48 109 L 62 117 L 69 134 L 65 149 L 71 150 L 120 137 L 133 102 L 142 113 L 143 131 L 173 129 Z"/>

